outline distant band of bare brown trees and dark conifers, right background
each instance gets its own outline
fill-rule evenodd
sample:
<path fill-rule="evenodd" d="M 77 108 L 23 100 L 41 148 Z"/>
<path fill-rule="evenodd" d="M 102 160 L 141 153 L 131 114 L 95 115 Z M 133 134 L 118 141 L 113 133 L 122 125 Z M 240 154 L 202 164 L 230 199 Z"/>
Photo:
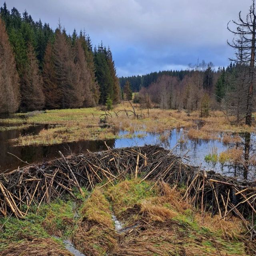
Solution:
<path fill-rule="evenodd" d="M 230 63 L 226 68 L 214 70 L 212 62 L 204 61 L 190 66 L 185 71 L 165 71 L 154 74 L 154 80 L 147 86 L 140 86 L 138 94 L 135 94 L 134 103 L 149 107 L 158 104 L 164 109 L 186 109 L 189 112 L 201 110 L 202 115 L 208 115 L 212 108 L 220 108 L 234 99 L 236 92 L 236 74 L 241 69 L 238 64 Z M 153 76 L 138 76 L 153 79 Z M 134 88 L 133 80 L 126 79 L 122 90 L 126 93 L 127 88 Z M 226 102 L 226 103 L 225 103 Z M 234 106 L 234 103 L 232 103 Z"/>

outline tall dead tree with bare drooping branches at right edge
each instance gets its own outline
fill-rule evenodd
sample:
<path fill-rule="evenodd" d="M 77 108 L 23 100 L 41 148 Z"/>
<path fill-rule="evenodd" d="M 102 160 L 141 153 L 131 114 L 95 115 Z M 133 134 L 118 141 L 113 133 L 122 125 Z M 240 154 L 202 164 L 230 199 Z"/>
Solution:
<path fill-rule="evenodd" d="M 255 0 L 252 1 L 249 14 L 246 19 L 241 17 L 239 12 L 238 22 L 232 20 L 236 30 L 230 28 L 228 23 L 228 30 L 234 34 L 234 39 L 228 45 L 236 50 L 236 58 L 231 59 L 236 62 L 244 70 L 238 79 L 240 82 L 239 97 L 244 94 L 243 104 L 245 107 L 245 123 L 252 124 L 252 111 L 253 111 L 253 85 L 254 85 L 254 72 L 255 72 L 255 42 L 256 42 L 256 13 L 255 13 Z M 246 82 L 245 82 L 246 81 Z M 240 103 L 238 104 L 240 108 Z M 239 110 L 238 110 L 239 111 Z"/>

